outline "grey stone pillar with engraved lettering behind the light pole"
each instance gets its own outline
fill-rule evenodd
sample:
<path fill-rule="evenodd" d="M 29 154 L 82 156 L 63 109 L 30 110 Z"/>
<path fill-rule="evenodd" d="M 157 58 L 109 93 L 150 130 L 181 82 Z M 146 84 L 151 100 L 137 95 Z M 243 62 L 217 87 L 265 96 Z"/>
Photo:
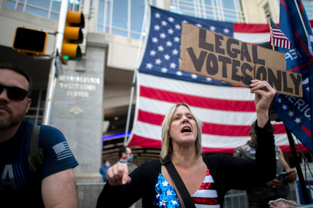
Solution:
<path fill-rule="evenodd" d="M 57 79 L 51 126 L 64 133 L 79 166 L 76 182 L 102 182 L 103 89 L 106 47 L 89 46 L 81 61 L 69 61 Z"/>

